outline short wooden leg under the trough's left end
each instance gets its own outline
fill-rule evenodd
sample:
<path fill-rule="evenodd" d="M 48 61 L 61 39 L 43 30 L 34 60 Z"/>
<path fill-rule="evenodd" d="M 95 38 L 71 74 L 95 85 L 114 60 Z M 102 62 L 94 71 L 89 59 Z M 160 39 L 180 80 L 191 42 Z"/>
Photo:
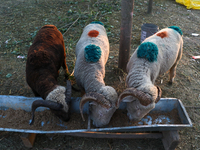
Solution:
<path fill-rule="evenodd" d="M 31 148 L 35 142 L 36 133 L 22 133 L 20 137 L 24 145 Z"/>

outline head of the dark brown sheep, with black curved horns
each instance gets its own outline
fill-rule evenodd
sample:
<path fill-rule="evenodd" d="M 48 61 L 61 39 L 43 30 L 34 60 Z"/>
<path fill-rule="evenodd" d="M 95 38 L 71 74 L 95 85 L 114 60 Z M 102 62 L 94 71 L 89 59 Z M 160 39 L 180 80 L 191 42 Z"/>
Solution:
<path fill-rule="evenodd" d="M 45 100 L 36 100 L 32 103 L 32 121 L 34 123 L 34 112 L 38 107 L 48 107 L 56 116 L 63 121 L 69 121 L 71 103 L 71 82 L 67 80 L 67 88 L 57 86 L 51 91 Z"/>

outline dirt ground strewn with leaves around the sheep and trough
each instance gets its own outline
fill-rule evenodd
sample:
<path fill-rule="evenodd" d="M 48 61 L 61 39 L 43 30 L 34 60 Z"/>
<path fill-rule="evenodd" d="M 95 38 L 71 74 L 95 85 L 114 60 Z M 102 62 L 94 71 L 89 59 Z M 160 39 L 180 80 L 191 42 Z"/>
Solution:
<path fill-rule="evenodd" d="M 154 0 L 153 12 L 148 15 L 148 0 L 135 0 L 131 54 L 140 44 L 143 23 L 154 23 L 159 29 L 179 26 L 183 31 L 183 57 L 177 67 L 174 84 L 168 84 L 168 74 L 159 76 L 156 85 L 162 97 L 180 99 L 193 123 L 192 128 L 179 131 L 176 150 L 200 149 L 200 11 L 187 10 L 175 0 Z M 37 31 L 45 24 L 54 24 L 63 33 L 67 65 L 70 72 L 75 65 L 75 45 L 84 26 L 98 20 L 105 24 L 110 41 L 110 55 L 106 65 L 105 82 L 118 94 L 125 89 L 126 73 L 120 74 L 118 51 L 120 40 L 120 0 L 1 0 L 0 1 L 0 95 L 34 96 L 25 81 L 26 55 Z M 21 57 L 21 58 L 20 58 Z M 23 58 L 24 57 L 24 58 Z M 65 85 L 60 70 L 59 84 Z M 73 96 L 80 96 L 74 92 Z M 189 107 L 194 106 L 194 107 Z M 0 132 L 0 149 L 32 150 L 162 150 L 161 139 L 95 139 L 63 134 L 38 134 L 33 148 L 26 148 L 20 133 Z"/>

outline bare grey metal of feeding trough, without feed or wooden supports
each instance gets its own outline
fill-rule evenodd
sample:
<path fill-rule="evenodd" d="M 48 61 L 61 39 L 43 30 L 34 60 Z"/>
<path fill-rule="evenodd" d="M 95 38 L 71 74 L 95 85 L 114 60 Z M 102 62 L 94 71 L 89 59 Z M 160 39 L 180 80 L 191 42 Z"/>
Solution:
<path fill-rule="evenodd" d="M 31 111 L 31 104 L 33 101 L 41 98 L 36 97 L 24 97 L 24 96 L 0 96 L 0 110 L 6 110 L 8 108 L 12 109 L 22 109 L 27 112 Z M 80 97 L 72 98 L 72 112 L 80 113 L 79 111 L 79 101 Z M 119 109 L 125 109 L 126 104 L 121 103 Z M 36 111 L 44 111 L 47 108 L 39 107 Z M 25 133 L 73 133 L 73 132 L 128 132 L 128 131 L 166 131 L 166 130 L 181 130 L 185 127 L 192 127 L 192 122 L 186 112 L 185 107 L 182 102 L 175 98 L 161 98 L 161 100 L 156 104 L 156 107 L 150 112 L 159 112 L 160 114 L 170 112 L 176 109 L 180 117 L 180 124 L 147 124 L 147 125 L 136 125 L 136 126 L 122 126 L 122 127 L 106 127 L 106 128 L 91 128 L 90 118 L 88 119 L 88 129 L 76 129 L 76 130 L 54 130 L 54 131 L 43 131 L 43 130 L 28 130 L 28 129 L 12 129 L 12 128 L 1 128 L 0 131 L 11 131 L 11 132 L 25 132 Z M 88 105 L 83 108 L 83 113 L 88 112 Z M 89 115 L 88 115 L 89 116 Z M 28 123 L 28 121 L 27 121 Z"/>

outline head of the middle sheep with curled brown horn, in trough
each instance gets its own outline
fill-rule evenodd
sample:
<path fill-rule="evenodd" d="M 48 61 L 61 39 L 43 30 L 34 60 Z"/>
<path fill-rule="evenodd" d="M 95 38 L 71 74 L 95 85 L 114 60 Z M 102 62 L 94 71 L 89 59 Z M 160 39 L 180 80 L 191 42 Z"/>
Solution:
<path fill-rule="evenodd" d="M 93 125 L 96 127 L 107 125 L 116 110 L 117 97 L 115 89 L 109 86 L 102 87 L 99 93 L 86 93 L 79 105 L 83 120 L 85 121 L 82 113 L 83 106 L 86 102 L 90 101 L 89 110 Z"/>

